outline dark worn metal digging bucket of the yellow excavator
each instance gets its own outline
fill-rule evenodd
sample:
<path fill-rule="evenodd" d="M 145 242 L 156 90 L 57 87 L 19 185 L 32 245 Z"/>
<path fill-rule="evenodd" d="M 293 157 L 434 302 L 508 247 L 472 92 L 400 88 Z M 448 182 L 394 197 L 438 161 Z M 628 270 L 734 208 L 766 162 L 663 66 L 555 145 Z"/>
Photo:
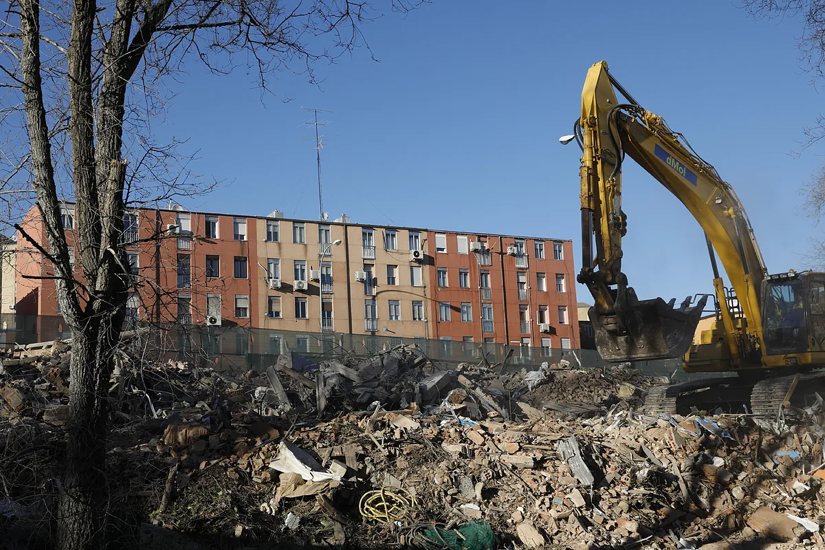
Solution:
<path fill-rule="evenodd" d="M 677 309 L 672 308 L 673 301 L 668 304 L 661 298 L 634 301 L 622 316 L 623 335 L 617 330 L 615 315 L 600 316 L 596 308 L 590 308 L 596 349 L 610 363 L 681 357 L 691 347 L 706 299 L 703 296 L 692 307 L 682 303 Z"/>

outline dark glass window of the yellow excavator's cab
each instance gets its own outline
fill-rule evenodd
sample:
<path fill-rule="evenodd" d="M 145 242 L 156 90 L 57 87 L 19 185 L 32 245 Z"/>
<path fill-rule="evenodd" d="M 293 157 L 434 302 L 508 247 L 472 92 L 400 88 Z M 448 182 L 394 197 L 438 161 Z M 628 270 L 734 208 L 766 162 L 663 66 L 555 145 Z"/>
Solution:
<path fill-rule="evenodd" d="M 804 315 L 804 283 L 784 280 L 766 284 L 764 335 L 769 354 L 807 349 Z"/>

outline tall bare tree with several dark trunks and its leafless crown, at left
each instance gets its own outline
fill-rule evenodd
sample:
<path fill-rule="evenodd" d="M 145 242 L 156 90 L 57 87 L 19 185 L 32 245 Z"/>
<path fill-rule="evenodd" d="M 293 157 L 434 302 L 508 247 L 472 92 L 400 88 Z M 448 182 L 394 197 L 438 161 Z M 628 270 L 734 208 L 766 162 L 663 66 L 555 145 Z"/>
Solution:
<path fill-rule="evenodd" d="M 404 12 L 422 0 L 376 1 Z M 314 82 L 316 62 L 369 49 L 362 26 L 377 16 L 350 0 L 9 2 L 0 29 L 0 200 L 9 216 L 36 200 L 46 242 L 16 228 L 53 266 L 73 333 L 60 548 L 105 543 L 106 386 L 131 284 L 120 239 L 126 200 L 151 202 L 184 185 L 142 177 L 173 157 L 146 130 L 167 107 L 163 82 L 186 63 L 217 74 L 252 68 L 262 90 L 282 70 Z M 76 203 L 77 269 L 62 200 Z"/>

